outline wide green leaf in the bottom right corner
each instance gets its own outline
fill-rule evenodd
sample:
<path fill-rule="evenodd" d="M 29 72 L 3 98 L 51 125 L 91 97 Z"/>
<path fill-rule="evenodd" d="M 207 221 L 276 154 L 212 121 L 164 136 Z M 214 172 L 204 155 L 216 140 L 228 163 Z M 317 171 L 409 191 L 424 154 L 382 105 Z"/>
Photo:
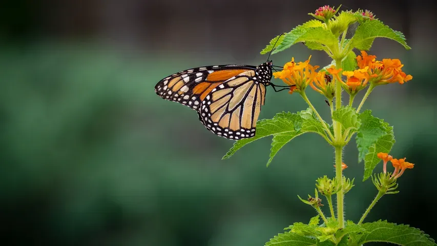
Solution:
<path fill-rule="evenodd" d="M 398 245 L 428 246 L 437 245 L 429 235 L 404 224 L 389 223 L 386 220 L 364 223 L 362 227 L 369 232 L 361 237 L 358 245 L 367 242 L 389 242 Z"/>

